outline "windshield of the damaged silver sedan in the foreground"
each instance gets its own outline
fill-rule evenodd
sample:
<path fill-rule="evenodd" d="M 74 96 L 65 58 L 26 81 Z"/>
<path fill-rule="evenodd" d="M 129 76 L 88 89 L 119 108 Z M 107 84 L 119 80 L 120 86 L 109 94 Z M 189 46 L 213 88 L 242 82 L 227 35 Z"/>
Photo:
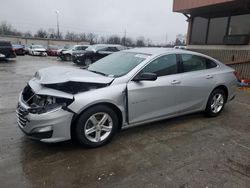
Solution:
<path fill-rule="evenodd" d="M 91 64 L 88 70 L 106 76 L 120 77 L 130 72 L 148 56 L 150 55 L 135 52 L 116 52 Z"/>

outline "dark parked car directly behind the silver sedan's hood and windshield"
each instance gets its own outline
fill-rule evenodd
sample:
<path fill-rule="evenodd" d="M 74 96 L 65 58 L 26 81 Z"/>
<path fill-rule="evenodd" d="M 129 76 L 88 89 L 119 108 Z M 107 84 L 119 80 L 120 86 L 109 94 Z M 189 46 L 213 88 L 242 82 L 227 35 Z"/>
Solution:
<path fill-rule="evenodd" d="M 76 64 L 81 64 L 88 66 L 95 61 L 110 55 L 114 52 L 124 50 L 125 47 L 121 45 L 112 45 L 112 44 L 96 44 L 88 47 L 82 53 L 73 53 L 72 61 Z"/>

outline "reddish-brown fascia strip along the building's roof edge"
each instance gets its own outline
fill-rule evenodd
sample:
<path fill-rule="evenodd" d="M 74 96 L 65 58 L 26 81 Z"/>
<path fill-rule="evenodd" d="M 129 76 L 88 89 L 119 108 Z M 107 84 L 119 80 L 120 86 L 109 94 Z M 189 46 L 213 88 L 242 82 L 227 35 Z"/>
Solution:
<path fill-rule="evenodd" d="M 234 0 L 174 0 L 174 12 L 181 12 L 187 9 L 200 8 L 209 5 L 226 3 Z"/>

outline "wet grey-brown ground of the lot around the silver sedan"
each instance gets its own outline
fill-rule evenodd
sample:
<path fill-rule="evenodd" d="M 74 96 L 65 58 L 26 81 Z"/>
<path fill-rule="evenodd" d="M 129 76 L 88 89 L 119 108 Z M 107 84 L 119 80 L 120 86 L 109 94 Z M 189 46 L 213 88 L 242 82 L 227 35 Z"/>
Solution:
<path fill-rule="evenodd" d="M 250 92 L 217 118 L 193 114 L 123 130 L 102 148 L 43 144 L 16 125 L 19 92 L 54 57 L 0 62 L 0 187 L 250 187 Z"/>

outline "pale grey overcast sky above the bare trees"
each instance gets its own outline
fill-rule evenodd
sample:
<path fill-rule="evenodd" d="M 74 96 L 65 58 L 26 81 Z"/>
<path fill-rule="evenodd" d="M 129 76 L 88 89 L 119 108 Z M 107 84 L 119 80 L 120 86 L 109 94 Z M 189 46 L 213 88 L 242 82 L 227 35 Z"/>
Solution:
<path fill-rule="evenodd" d="M 60 31 L 94 32 L 98 35 L 144 36 L 155 43 L 186 34 L 182 14 L 173 13 L 173 0 L 0 0 L 0 22 L 7 21 L 21 31 L 39 28 Z M 167 37 L 166 37 L 167 36 Z"/>

